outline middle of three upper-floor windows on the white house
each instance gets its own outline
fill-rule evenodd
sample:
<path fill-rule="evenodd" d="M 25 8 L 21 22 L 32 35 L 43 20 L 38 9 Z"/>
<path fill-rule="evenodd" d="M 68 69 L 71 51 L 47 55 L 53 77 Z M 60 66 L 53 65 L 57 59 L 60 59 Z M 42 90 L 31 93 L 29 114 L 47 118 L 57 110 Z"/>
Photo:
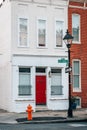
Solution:
<path fill-rule="evenodd" d="M 46 20 L 38 19 L 38 46 L 46 46 Z"/>

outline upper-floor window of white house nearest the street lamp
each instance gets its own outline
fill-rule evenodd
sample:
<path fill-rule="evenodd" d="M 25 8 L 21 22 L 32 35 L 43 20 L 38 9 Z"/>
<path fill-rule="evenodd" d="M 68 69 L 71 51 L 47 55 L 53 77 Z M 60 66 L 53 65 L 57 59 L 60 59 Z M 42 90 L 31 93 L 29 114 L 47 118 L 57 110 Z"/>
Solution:
<path fill-rule="evenodd" d="M 62 47 L 63 21 L 56 21 L 56 47 Z"/>

